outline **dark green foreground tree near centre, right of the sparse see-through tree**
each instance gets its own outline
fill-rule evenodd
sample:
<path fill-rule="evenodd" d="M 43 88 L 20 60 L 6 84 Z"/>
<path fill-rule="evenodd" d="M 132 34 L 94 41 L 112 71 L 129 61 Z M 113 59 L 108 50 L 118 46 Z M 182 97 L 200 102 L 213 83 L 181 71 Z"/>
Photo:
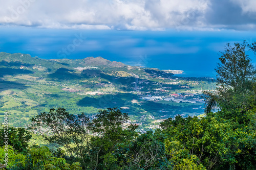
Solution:
<path fill-rule="evenodd" d="M 129 120 L 126 113 L 122 113 L 118 108 L 108 108 L 108 110 L 100 110 L 96 118 L 89 124 L 89 129 L 94 133 L 91 138 L 92 146 L 90 161 L 94 162 L 94 168 L 108 169 L 106 164 L 112 163 L 116 159 L 109 159 L 104 155 L 112 156 L 113 153 L 120 153 L 127 145 L 135 139 L 138 133 L 136 125 L 130 125 L 126 128 L 124 123 Z M 116 154 L 118 155 L 118 154 Z M 122 153 L 119 154 L 119 161 L 123 159 Z M 107 161 L 110 160 L 111 162 Z M 117 160 L 114 162 L 118 162 Z M 121 161 L 120 161 L 121 162 Z"/>

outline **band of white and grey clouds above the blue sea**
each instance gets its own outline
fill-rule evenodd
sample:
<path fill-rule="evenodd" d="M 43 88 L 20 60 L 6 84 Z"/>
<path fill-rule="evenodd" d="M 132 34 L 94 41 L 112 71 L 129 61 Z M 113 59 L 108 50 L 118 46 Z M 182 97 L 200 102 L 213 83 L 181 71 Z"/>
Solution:
<path fill-rule="evenodd" d="M 0 25 L 63 29 L 212 30 L 230 28 L 215 17 L 217 0 L 0 0 Z M 221 1 L 219 1 L 221 2 Z M 255 0 L 230 0 L 255 28 Z M 229 6 L 222 12 L 230 16 Z M 228 13 L 229 12 L 229 13 Z M 240 12 L 240 11 L 235 11 Z M 248 15 L 247 15 L 248 14 Z M 210 15 L 210 16 L 209 16 Z M 231 16 L 230 16 L 231 17 Z M 212 19 L 215 18 L 215 19 Z M 242 19 L 243 21 L 246 19 Z M 253 22 L 254 21 L 254 22 Z M 253 23 L 252 23 L 253 22 Z M 223 27 L 221 27 L 223 26 Z M 232 29 L 232 28 L 231 28 Z"/>

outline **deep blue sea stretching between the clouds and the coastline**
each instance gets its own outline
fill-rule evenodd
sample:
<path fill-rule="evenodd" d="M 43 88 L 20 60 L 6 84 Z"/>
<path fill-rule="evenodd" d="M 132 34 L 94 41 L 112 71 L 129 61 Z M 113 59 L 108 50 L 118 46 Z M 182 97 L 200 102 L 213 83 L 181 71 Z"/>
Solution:
<path fill-rule="evenodd" d="M 256 40 L 238 31 L 55 30 L 0 27 L 0 52 L 44 59 L 101 56 L 111 61 L 159 69 L 184 70 L 186 77 L 215 77 L 219 51 L 227 42 Z M 255 62 L 255 57 L 252 57 Z"/>

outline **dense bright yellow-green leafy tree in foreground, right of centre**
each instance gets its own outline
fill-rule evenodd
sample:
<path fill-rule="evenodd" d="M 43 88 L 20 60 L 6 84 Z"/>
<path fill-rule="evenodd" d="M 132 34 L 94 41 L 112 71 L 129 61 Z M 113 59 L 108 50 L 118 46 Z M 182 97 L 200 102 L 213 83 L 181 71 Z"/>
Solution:
<path fill-rule="evenodd" d="M 172 118 L 164 120 L 161 123 L 163 130 L 158 130 L 157 133 L 164 133 L 167 136 L 165 144 L 168 148 L 172 148 L 172 144 L 180 143 L 180 153 L 187 156 L 171 154 L 170 159 L 174 160 L 176 164 L 184 165 L 184 162 L 177 162 L 178 159 L 175 158 L 183 157 L 188 162 L 196 160 L 193 161 L 195 165 L 202 164 L 206 169 L 212 169 L 219 160 L 223 160 L 223 155 L 227 151 L 223 140 L 226 137 L 224 129 L 228 129 L 228 127 L 226 124 L 220 124 L 212 116 L 201 119 L 197 116 L 186 118 L 176 116 L 175 120 Z M 172 149 L 167 149 L 166 152 L 172 153 Z"/>

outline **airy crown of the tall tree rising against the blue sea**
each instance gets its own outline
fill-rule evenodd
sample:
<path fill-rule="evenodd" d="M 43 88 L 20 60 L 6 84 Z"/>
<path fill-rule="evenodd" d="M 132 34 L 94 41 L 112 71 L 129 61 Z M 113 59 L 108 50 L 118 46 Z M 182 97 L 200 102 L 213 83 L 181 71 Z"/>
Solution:
<path fill-rule="evenodd" d="M 222 88 L 232 88 L 234 92 L 245 90 L 248 82 L 255 78 L 255 67 L 251 64 L 251 59 L 245 54 L 246 42 L 243 44 L 234 43 L 231 47 L 229 43 L 222 53 L 217 68 L 217 84 Z M 228 86 L 228 87 L 226 87 Z"/>

